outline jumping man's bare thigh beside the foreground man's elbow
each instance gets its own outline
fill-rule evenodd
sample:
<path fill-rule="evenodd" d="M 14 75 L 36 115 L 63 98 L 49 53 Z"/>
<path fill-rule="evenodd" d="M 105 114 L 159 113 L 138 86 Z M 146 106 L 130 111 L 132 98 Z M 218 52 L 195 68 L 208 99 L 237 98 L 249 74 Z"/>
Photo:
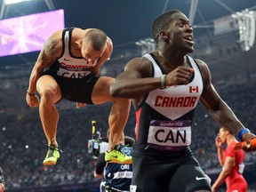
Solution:
<path fill-rule="evenodd" d="M 114 78 L 109 76 L 100 76 L 97 83 L 92 90 L 92 102 L 94 104 L 101 104 L 108 101 L 114 101 L 115 99 L 110 96 L 110 84 L 112 84 Z"/>

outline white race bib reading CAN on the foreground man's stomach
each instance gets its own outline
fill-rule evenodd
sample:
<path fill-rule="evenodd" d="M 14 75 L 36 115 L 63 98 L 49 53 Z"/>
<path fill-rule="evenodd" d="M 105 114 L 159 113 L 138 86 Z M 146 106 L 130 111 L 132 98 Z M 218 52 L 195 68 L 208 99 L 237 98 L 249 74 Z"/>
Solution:
<path fill-rule="evenodd" d="M 160 150 L 180 150 L 191 143 L 191 121 L 150 122 L 148 147 Z"/>

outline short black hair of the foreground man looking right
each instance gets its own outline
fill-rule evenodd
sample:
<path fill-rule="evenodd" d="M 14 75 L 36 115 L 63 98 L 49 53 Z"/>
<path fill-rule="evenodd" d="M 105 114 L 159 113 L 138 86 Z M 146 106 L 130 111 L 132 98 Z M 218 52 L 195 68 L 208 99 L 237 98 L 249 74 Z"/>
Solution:
<path fill-rule="evenodd" d="M 172 14 L 180 12 L 179 10 L 171 10 L 164 12 L 156 17 L 152 23 L 152 37 L 158 43 L 159 32 L 161 30 L 167 29 L 172 23 Z"/>

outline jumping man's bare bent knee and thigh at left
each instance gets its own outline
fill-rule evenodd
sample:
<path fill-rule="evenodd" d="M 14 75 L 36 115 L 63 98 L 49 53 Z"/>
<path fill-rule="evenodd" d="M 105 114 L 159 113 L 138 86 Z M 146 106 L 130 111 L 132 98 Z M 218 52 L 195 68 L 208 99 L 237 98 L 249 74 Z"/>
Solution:
<path fill-rule="evenodd" d="M 56 103 L 61 99 L 60 86 L 52 76 L 41 76 L 36 83 L 36 90 L 41 97 L 50 96 L 52 103 Z"/>

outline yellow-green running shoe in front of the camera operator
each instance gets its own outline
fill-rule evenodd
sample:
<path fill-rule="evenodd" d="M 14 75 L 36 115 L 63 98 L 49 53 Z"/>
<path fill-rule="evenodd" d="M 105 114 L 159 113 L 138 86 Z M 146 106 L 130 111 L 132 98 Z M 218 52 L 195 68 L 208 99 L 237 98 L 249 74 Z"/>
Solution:
<path fill-rule="evenodd" d="M 105 161 L 114 164 L 132 164 L 132 156 L 125 156 L 118 145 L 111 151 L 107 151 Z"/>

